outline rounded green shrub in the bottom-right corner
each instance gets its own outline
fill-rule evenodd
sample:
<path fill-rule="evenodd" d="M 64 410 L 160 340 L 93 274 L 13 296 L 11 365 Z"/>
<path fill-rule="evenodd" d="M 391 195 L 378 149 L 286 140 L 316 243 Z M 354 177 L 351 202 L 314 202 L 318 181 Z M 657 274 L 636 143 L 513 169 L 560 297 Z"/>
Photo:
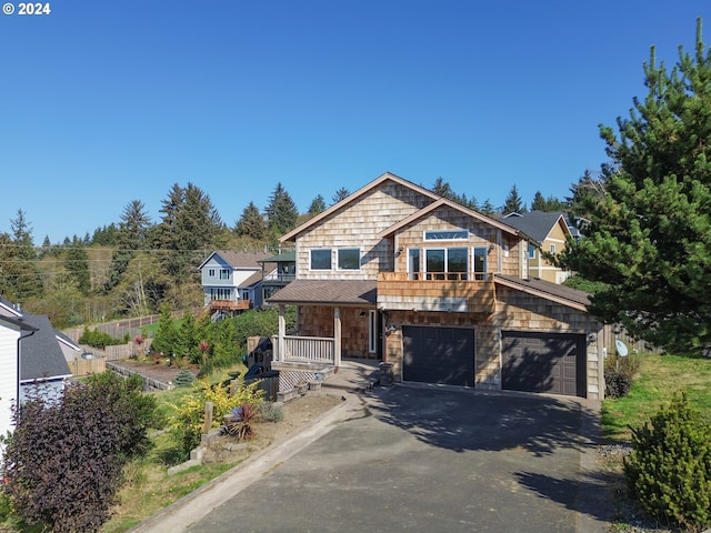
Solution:
<path fill-rule="evenodd" d="M 655 519 L 688 531 L 711 525 L 711 430 L 684 394 L 632 430 L 624 476 L 631 495 Z"/>

